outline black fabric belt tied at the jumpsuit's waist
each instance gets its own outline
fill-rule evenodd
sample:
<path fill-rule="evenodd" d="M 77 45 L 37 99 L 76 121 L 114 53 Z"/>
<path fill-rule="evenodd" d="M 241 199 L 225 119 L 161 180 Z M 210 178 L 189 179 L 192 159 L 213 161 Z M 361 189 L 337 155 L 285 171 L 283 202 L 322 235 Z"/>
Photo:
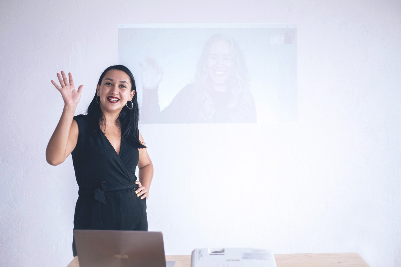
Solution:
<path fill-rule="evenodd" d="M 101 225 L 101 204 L 106 204 L 105 192 L 110 191 L 120 191 L 124 189 L 137 189 L 138 185 L 134 183 L 126 184 L 126 185 L 117 185 L 113 187 L 106 188 L 106 181 L 101 182 L 100 186 L 96 189 L 89 189 L 89 188 L 79 188 L 78 195 L 92 195 L 93 194 L 93 201 L 91 205 L 91 228 L 95 227 L 96 225 Z M 121 207 L 120 207 L 121 209 Z"/>

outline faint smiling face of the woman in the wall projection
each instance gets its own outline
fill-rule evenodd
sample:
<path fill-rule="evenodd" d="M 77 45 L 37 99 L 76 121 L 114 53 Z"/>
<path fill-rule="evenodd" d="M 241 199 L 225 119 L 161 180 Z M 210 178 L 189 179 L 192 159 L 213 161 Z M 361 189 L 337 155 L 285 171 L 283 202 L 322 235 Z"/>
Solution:
<path fill-rule="evenodd" d="M 232 65 L 229 44 L 224 40 L 213 42 L 207 59 L 209 76 L 213 83 L 218 85 L 224 84 L 231 75 Z"/>

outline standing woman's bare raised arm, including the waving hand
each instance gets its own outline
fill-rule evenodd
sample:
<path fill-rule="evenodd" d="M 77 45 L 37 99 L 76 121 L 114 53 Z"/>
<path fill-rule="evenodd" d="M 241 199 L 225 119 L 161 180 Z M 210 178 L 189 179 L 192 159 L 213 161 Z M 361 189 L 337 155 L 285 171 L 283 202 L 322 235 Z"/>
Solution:
<path fill-rule="evenodd" d="M 64 108 L 46 149 L 46 161 L 50 165 L 63 163 L 74 150 L 78 140 L 78 124 L 73 120 L 73 117 L 79 98 L 81 98 L 83 85 L 79 86 L 78 91 L 76 91 L 71 73 L 69 73 L 69 82 L 63 71 L 61 74 L 63 78 L 58 73 L 57 77 L 62 87 L 58 86 L 53 80 L 51 81 L 63 96 Z"/>

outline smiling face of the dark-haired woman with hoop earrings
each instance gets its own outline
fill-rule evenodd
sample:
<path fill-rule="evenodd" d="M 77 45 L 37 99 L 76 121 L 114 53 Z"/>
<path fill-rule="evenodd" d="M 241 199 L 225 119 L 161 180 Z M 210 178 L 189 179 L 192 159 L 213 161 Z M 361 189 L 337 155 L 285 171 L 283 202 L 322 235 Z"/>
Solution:
<path fill-rule="evenodd" d="M 101 84 L 97 84 L 97 95 L 100 98 L 100 108 L 103 112 L 120 112 L 131 101 L 135 90 L 131 91 L 130 76 L 122 70 L 106 72 Z"/>

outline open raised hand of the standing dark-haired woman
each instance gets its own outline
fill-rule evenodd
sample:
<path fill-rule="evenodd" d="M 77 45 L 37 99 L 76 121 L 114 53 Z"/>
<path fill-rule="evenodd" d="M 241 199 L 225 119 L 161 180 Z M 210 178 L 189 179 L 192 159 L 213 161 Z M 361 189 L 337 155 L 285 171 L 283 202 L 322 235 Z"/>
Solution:
<path fill-rule="evenodd" d="M 68 73 L 68 78 L 70 80 L 69 82 L 63 70 L 61 71 L 61 75 L 63 77 L 61 77 L 60 74 L 57 72 L 57 78 L 59 78 L 61 87 L 53 80 L 51 80 L 51 83 L 57 88 L 57 90 L 60 91 L 61 96 L 63 96 L 64 104 L 66 106 L 77 106 L 79 99 L 81 98 L 83 85 L 80 85 L 77 91 L 74 87 L 74 81 L 71 72 Z"/>

